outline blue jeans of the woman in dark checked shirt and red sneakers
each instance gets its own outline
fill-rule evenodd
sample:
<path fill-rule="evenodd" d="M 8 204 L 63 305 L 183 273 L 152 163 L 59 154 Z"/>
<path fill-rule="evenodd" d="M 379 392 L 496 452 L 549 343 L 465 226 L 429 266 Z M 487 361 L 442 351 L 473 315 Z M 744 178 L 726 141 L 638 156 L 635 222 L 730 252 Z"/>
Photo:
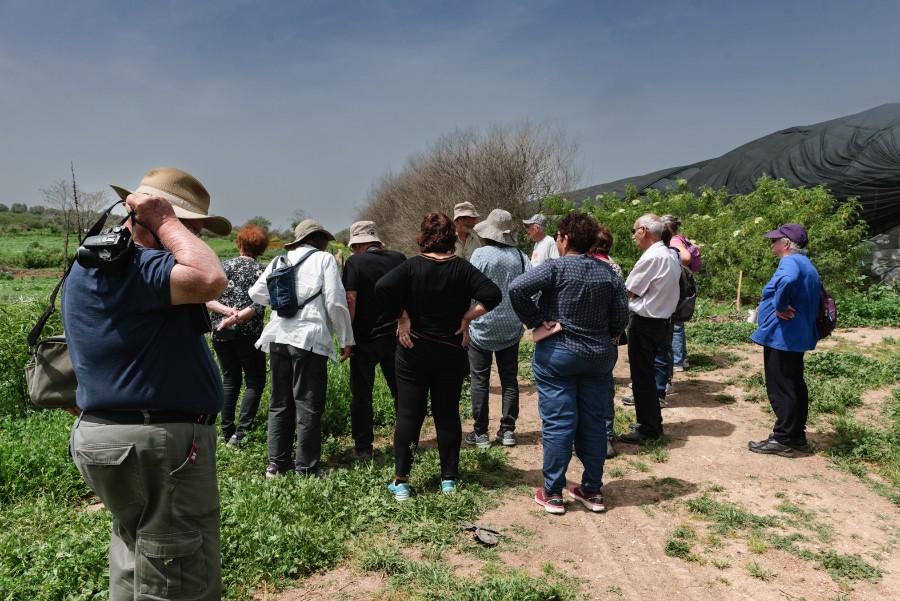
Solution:
<path fill-rule="evenodd" d="M 538 389 L 547 494 L 562 494 L 573 442 L 584 465 L 582 491 L 596 493 L 603 486 L 606 416 L 614 390 L 614 365 L 615 361 L 592 363 L 552 339 L 535 345 L 531 368 Z"/>

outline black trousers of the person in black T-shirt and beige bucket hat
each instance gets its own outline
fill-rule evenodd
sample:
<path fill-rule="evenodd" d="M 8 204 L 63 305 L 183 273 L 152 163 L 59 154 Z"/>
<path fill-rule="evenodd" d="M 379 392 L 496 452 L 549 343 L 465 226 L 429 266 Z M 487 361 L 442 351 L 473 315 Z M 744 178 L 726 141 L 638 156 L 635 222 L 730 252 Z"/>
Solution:
<path fill-rule="evenodd" d="M 350 431 L 357 451 L 371 451 L 375 440 L 372 431 L 372 390 L 375 388 L 376 365 L 381 365 L 381 373 L 394 397 L 394 411 L 397 410 L 397 375 L 394 369 L 397 337 L 357 340 L 353 352 L 350 359 Z"/>

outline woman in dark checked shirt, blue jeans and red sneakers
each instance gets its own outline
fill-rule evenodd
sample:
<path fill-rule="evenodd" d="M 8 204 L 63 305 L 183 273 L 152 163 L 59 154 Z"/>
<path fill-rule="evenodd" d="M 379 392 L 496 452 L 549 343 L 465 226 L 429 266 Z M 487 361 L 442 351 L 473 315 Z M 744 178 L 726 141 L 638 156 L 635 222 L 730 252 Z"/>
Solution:
<path fill-rule="evenodd" d="M 565 513 L 562 489 L 572 443 L 584 465 L 581 485 L 569 496 L 591 511 L 603 511 L 606 413 L 615 386 L 614 340 L 628 320 L 622 280 L 588 253 L 597 241 L 597 221 L 575 211 L 556 225 L 559 258 L 517 277 L 509 286 L 513 309 L 535 331 L 562 329 L 534 345 L 531 368 L 538 389 L 544 446 L 544 485 L 534 500 L 549 513 Z M 541 293 L 539 303 L 532 299 Z"/>

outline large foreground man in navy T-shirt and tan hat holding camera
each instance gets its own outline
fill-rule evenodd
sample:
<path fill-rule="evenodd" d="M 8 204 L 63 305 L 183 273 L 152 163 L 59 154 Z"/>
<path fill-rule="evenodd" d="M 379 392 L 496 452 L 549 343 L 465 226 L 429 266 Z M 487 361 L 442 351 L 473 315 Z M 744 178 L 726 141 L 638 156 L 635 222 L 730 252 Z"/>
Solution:
<path fill-rule="evenodd" d="M 224 394 L 203 303 L 228 278 L 199 235 L 231 224 L 209 214 L 206 188 L 179 169 L 113 189 L 131 215 L 124 273 L 76 263 L 63 287 L 81 410 L 72 457 L 112 514 L 110 599 L 219 599 Z"/>

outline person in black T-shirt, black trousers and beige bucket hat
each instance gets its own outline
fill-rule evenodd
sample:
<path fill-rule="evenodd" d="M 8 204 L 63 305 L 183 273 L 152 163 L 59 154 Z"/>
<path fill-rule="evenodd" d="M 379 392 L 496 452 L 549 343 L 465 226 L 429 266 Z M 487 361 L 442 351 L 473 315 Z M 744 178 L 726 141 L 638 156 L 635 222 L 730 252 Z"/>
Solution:
<path fill-rule="evenodd" d="M 394 374 L 397 320 L 386 315 L 375 302 L 375 282 L 403 263 L 406 257 L 384 247 L 372 221 L 357 221 L 350 226 L 349 245 L 353 254 L 344 264 L 343 283 L 356 340 L 350 359 L 350 422 L 356 457 L 368 461 L 372 458 L 372 442 L 375 439 L 372 431 L 372 390 L 375 387 L 376 365 L 381 365 L 381 373 L 394 403 L 397 401 Z"/>

